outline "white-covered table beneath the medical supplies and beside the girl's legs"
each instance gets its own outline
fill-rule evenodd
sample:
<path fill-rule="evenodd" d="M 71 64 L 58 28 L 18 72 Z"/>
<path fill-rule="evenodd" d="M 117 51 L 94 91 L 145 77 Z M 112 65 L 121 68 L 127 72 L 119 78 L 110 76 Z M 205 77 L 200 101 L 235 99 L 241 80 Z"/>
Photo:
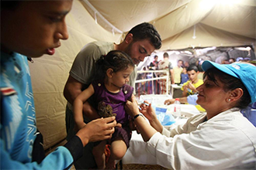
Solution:
<path fill-rule="evenodd" d="M 182 115 L 175 124 L 171 126 L 176 126 L 178 124 L 184 124 L 188 117 L 193 114 L 199 114 L 199 110 L 196 109 L 194 105 L 191 104 L 181 104 Z M 173 105 L 168 105 L 168 107 L 173 107 Z M 168 108 L 168 110 L 171 110 Z M 177 120 L 177 119 L 176 119 Z M 169 127 L 168 127 L 169 128 Z M 144 165 L 157 165 L 154 156 L 150 155 L 146 151 L 146 143 L 137 131 L 133 131 L 132 138 L 130 140 L 130 148 L 126 151 L 126 155 L 122 159 L 123 164 L 144 164 Z"/>

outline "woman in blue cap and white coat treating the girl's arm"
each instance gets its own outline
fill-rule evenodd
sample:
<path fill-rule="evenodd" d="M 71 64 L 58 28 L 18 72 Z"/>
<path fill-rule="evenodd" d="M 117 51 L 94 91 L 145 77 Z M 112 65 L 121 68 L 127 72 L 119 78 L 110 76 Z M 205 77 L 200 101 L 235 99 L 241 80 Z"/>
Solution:
<path fill-rule="evenodd" d="M 126 102 L 148 153 L 158 165 L 170 169 L 255 169 L 256 128 L 240 113 L 256 102 L 255 66 L 205 61 L 202 69 L 204 83 L 197 88 L 197 103 L 206 113 L 176 128 L 164 128 L 151 104 L 141 104 L 138 110 L 135 97 Z"/>

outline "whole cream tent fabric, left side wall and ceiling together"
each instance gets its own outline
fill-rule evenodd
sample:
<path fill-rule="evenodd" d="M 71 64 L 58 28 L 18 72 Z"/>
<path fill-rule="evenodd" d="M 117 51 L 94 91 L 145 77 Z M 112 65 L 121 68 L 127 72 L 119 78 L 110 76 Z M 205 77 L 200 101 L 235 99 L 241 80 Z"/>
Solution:
<path fill-rule="evenodd" d="M 93 41 L 119 43 L 141 22 L 152 23 L 166 49 L 256 44 L 256 1 L 225 0 L 74 0 L 66 17 L 69 39 L 54 56 L 29 63 L 36 120 L 50 148 L 65 138 L 63 90 L 74 57 Z M 192 38 L 194 37 L 194 39 Z"/>

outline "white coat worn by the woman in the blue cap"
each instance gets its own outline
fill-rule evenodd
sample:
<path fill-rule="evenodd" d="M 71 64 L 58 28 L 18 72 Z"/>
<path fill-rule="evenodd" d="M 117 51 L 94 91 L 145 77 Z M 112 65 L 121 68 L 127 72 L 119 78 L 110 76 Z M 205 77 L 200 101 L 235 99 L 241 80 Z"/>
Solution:
<path fill-rule="evenodd" d="M 237 108 L 208 121 L 206 113 L 147 141 L 157 165 L 171 169 L 256 169 L 256 128 Z"/>

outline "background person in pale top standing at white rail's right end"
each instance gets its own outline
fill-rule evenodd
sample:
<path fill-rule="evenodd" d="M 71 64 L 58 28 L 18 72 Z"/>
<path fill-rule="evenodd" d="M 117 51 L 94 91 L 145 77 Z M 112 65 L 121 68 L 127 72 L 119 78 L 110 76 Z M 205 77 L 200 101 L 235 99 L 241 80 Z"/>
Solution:
<path fill-rule="evenodd" d="M 173 67 L 171 65 L 171 62 L 169 61 L 169 54 L 168 53 L 164 53 L 164 60 L 159 62 L 158 64 L 158 69 L 159 70 L 167 70 L 170 73 L 171 76 L 171 83 L 175 83 L 174 80 L 174 72 L 173 72 Z M 166 76 L 166 73 L 161 73 L 160 76 Z M 160 83 L 160 89 L 161 89 L 161 94 L 166 94 L 166 89 L 168 87 L 166 87 L 166 80 L 165 79 L 161 79 L 159 80 Z"/>

